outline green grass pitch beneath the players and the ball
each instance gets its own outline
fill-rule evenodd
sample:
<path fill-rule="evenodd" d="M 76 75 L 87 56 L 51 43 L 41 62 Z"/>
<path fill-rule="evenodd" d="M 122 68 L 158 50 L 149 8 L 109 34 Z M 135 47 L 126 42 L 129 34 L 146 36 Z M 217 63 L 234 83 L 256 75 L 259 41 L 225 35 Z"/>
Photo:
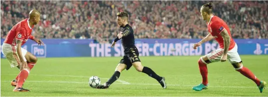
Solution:
<path fill-rule="evenodd" d="M 235 71 L 229 62 L 208 65 L 210 88 L 195 92 L 192 87 L 201 83 L 198 59 L 200 56 L 140 57 L 143 66 L 166 78 L 167 89 L 144 73 L 131 67 L 123 71 L 118 81 L 109 89 L 99 90 L 88 86 L 91 76 L 101 78 L 101 84 L 114 73 L 121 57 L 105 58 L 39 58 L 31 70 L 23 88 L 28 93 L 13 93 L 10 86 L 17 68 L 10 68 L 6 59 L 1 59 L 0 96 L 268 96 L 268 89 L 260 93 L 256 84 Z M 268 82 L 268 56 L 243 55 L 243 64 L 260 80 Z"/>

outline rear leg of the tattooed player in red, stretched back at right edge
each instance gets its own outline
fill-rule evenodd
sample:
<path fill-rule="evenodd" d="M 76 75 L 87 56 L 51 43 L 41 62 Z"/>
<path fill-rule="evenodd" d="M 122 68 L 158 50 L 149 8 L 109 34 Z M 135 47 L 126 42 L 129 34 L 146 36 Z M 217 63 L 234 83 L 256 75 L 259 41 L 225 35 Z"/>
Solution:
<path fill-rule="evenodd" d="M 267 83 L 265 81 L 260 81 L 252 72 L 251 70 L 249 70 L 247 67 L 244 67 L 242 65 L 242 62 L 239 63 L 233 63 L 232 64 L 234 66 L 234 68 L 236 69 L 236 71 L 240 72 L 242 75 L 244 75 L 245 77 L 251 79 L 252 81 L 254 81 L 256 83 L 256 85 L 258 86 L 260 93 L 263 93 L 263 90 L 266 88 Z"/>

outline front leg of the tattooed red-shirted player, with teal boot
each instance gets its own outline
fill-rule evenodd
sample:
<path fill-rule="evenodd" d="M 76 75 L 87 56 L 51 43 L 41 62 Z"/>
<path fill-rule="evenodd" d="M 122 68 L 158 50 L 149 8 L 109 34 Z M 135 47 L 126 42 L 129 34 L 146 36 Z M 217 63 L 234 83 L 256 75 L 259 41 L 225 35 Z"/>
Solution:
<path fill-rule="evenodd" d="M 202 80 L 201 84 L 193 87 L 193 90 L 195 90 L 195 91 L 202 91 L 203 89 L 208 89 L 208 87 L 209 87 L 209 84 L 208 84 L 208 68 L 207 68 L 208 63 L 206 63 L 206 61 L 204 61 L 204 59 L 206 59 L 206 61 L 208 63 L 211 63 L 206 56 L 204 58 L 201 57 L 198 60 L 199 71 L 200 71 L 200 74 L 202 75 L 203 80 Z"/>

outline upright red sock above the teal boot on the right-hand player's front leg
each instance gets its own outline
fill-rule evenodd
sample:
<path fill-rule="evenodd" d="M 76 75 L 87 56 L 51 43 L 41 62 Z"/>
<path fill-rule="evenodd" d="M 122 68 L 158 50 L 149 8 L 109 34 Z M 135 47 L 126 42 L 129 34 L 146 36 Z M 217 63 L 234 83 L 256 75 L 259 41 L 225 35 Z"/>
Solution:
<path fill-rule="evenodd" d="M 202 75 L 202 84 L 205 86 L 208 84 L 208 68 L 207 64 L 203 63 L 201 59 L 198 60 L 199 70 Z"/>

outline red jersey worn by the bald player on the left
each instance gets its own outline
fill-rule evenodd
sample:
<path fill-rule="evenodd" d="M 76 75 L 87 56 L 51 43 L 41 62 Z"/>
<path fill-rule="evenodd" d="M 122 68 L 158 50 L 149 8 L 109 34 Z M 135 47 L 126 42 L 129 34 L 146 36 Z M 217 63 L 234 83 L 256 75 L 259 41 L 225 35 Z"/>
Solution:
<path fill-rule="evenodd" d="M 21 20 L 8 32 L 4 43 L 15 46 L 16 40 L 22 40 L 21 45 L 23 45 L 28 40 L 29 36 L 31 36 L 32 28 L 33 26 L 30 27 L 28 19 Z"/>

